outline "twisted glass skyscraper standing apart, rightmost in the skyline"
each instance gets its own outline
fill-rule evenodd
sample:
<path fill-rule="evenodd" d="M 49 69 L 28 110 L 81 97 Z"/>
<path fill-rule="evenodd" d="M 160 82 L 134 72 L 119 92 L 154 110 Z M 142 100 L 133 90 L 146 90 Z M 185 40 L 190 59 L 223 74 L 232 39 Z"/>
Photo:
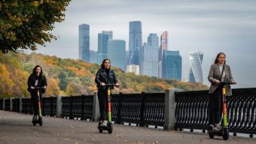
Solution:
<path fill-rule="evenodd" d="M 202 61 L 204 54 L 203 52 L 190 52 L 189 62 L 189 82 L 203 83 L 203 72 L 202 72 Z"/>

